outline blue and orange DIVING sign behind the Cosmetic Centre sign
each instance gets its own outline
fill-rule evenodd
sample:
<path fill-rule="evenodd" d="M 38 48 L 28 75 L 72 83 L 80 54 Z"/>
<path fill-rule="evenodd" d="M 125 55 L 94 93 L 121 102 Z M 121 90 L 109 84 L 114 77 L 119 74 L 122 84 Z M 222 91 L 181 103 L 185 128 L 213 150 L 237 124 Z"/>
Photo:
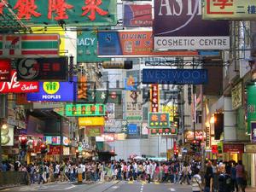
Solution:
<path fill-rule="evenodd" d="M 168 23 L 169 25 L 169 23 Z M 158 51 L 153 50 L 151 31 L 98 32 L 98 55 L 101 57 L 137 57 L 137 56 L 191 56 L 197 51 Z"/>

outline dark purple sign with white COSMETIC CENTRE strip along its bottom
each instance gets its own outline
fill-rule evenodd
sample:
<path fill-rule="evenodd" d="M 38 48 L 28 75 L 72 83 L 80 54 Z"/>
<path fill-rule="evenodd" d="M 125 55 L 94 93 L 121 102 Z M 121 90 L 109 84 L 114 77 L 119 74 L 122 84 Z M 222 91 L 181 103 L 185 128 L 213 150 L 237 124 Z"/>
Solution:
<path fill-rule="evenodd" d="M 154 0 L 154 49 L 230 49 L 229 34 L 228 21 L 202 20 L 201 0 Z"/>

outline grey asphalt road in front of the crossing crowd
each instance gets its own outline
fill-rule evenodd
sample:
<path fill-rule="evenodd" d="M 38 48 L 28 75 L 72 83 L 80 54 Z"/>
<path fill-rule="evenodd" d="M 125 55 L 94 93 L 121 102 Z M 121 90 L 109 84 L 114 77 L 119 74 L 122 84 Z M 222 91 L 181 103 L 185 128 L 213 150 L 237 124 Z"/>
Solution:
<path fill-rule="evenodd" d="M 141 183 L 141 182 L 106 182 L 93 184 L 73 184 L 73 183 L 51 183 L 39 186 L 20 186 L 11 189 L 3 189 L 8 192 L 33 192 L 33 191 L 61 191 L 61 192 L 191 192 L 191 187 L 181 184 L 170 183 Z"/>

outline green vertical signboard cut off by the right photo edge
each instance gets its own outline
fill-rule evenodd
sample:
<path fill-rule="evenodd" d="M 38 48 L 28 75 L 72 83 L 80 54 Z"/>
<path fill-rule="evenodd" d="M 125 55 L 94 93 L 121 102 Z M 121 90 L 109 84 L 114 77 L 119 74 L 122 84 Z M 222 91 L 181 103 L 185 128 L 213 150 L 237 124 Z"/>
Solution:
<path fill-rule="evenodd" d="M 251 133 L 251 122 L 256 121 L 256 85 L 247 86 L 247 133 Z"/>

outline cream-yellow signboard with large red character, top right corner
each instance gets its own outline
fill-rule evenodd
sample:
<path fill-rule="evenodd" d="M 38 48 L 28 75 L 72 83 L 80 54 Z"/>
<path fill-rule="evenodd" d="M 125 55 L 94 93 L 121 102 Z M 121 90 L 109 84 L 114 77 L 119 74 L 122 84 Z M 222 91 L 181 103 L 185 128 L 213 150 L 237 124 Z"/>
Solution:
<path fill-rule="evenodd" d="M 203 0 L 205 20 L 255 20 L 255 0 Z"/>

